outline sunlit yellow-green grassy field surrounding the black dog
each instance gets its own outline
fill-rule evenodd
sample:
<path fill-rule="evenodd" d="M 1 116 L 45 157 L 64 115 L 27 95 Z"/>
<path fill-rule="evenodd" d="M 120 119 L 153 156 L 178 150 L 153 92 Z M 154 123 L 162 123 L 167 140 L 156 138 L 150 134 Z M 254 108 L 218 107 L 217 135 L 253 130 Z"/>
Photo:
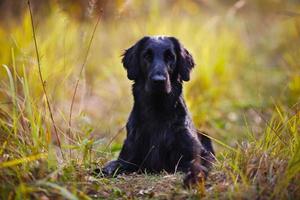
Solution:
<path fill-rule="evenodd" d="M 0 199 L 300 198 L 298 1 L 89 1 L 84 17 L 47 2 L 0 17 Z M 92 174 L 121 149 L 121 55 L 145 35 L 175 36 L 195 59 L 184 96 L 217 158 L 204 185 Z"/>

